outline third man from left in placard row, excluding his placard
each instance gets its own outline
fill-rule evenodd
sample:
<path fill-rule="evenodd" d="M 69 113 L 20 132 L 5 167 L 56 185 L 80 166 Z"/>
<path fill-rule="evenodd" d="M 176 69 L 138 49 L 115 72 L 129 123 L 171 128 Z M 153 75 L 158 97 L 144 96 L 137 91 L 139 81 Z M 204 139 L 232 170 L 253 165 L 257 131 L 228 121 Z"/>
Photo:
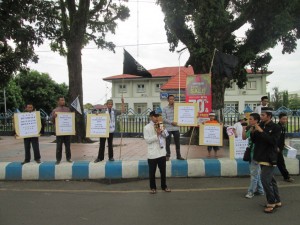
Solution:
<path fill-rule="evenodd" d="M 108 142 L 108 159 L 109 161 L 114 161 L 114 150 L 113 150 L 113 138 L 114 138 L 114 132 L 116 128 L 116 119 L 117 116 L 120 115 L 121 113 L 125 112 L 124 108 L 124 98 L 122 97 L 121 99 L 122 104 L 121 104 L 121 111 L 113 109 L 113 100 L 109 99 L 106 101 L 106 111 L 102 111 L 101 113 L 108 113 L 110 117 L 110 122 L 109 122 L 109 137 L 108 138 L 100 138 L 100 145 L 99 145 L 99 151 L 98 151 L 98 157 L 94 161 L 95 163 L 101 162 L 104 160 L 104 151 L 105 151 L 105 142 L 107 139 Z"/>

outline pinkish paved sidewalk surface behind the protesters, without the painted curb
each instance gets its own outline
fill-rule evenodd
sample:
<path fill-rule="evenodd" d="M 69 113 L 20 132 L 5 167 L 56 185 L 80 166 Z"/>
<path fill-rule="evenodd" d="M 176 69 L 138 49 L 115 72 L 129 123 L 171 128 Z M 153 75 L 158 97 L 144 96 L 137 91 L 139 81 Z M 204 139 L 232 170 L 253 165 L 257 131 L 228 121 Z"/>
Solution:
<path fill-rule="evenodd" d="M 93 139 L 95 143 L 91 144 L 71 144 L 71 153 L 73 161 L 94 161 L 98 155 L 99 139 Z M 40 153 L 42 161 L 55 161 L 56 143 L 55 136 L 42 136 L 39 138 Z M 142 138 L 114 138 L 114 158 L 122 161 L 135 161 L 147 159 L 147 144 Z M 228 143 L 226 143 L 228 145 Z M 218 151 L 219 158 L 229 157 L 229 147 L 225 145 Z M 186 159 L 200 159 L 207 157 L 206 146 L 181 145 L 181 155 Z M 105 161 L 108 160 L 107 147 L 105 149 Z M 24 161 L 23 139 L 15 139 L 12 136 L 0 136 L 0 162 Z M 212 152 L 212 156 L 214 153 Z M 176 159 L 175 145 L 171 144 L 171 157 Z M 65 160 L 63 154 L 62 160 Z M 33 161 L 33 152 L 31 151 L 31 161 Z"/>

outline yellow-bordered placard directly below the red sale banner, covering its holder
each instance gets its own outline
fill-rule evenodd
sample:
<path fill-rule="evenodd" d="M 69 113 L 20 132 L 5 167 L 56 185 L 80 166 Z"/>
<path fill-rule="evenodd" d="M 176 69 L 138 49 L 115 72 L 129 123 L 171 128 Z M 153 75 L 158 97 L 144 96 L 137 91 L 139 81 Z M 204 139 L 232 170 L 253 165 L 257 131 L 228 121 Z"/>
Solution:
<path fill-rule="evenodd" d="M 223 125 L 219 123 L 200 124 L 199 145 L 222 146 Z"/>

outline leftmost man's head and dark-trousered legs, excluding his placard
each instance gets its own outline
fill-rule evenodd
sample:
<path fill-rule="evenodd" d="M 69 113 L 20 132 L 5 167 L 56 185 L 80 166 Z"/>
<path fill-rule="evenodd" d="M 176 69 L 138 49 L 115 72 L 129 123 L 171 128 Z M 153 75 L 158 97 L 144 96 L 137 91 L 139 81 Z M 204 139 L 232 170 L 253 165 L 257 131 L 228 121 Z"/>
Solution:
<path fill-rule="evenodd" d="M 32 113 L 34 111 L 33 105 L 31 103 L 28 103 L 25 108 L 26 112 Z M 30 154 L 30 145 L 32 145 L 33 154 L 34 154 L 34 160 L 37 163 L 41 163 L 41 154 L 40 154 L 40 147 L 39 147 L 39 138 L 38 137 L 29 137 L 24 138 L 24 148 L 25 148 L 25 159 L 21 163 L 24 165 L 25 163 L 29 163 L 31 160 L 31 154 Z"/>

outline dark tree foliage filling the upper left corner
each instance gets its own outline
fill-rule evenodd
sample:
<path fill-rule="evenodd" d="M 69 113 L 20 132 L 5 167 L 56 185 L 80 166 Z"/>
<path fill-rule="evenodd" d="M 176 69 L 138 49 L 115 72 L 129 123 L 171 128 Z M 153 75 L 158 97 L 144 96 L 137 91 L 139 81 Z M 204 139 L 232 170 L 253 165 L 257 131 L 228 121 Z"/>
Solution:
<path fill-rule="evenodd" d="M 29 61 L 37 62 L 34 46 L 48 37 L 53 29 L 50 1 L 0 1 L 0 87 L 4 87 L 13 74 L 27 69 Z M 36 21 L 44 21 L 40 26 Z"/>

